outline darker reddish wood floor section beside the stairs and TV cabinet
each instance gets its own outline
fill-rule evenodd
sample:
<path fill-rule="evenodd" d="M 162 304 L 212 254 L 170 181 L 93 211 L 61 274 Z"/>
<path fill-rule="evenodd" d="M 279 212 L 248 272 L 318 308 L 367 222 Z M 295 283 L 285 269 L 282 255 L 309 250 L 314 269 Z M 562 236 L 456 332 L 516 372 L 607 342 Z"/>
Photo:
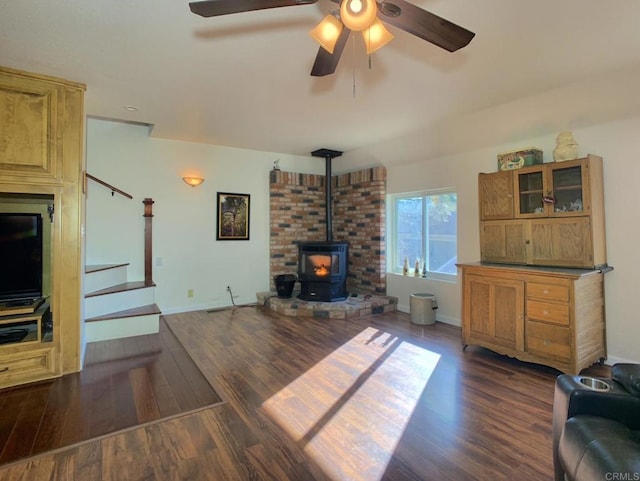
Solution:
<path fill-rule="evenodd" d="M 0 391 L 0 464 L 221 402 L 160 334 L 87 345 L 81 373 Z"/>

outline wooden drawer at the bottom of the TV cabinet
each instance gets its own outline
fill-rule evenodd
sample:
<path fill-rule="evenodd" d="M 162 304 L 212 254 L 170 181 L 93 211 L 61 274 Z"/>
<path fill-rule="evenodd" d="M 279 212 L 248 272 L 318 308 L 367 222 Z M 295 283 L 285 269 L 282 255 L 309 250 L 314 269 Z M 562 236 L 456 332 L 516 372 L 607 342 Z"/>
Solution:
<path fill-rule="evenodd" d="M 0 358 L 0 387 L 54 375 L 53 348 L 7 354 Z"/>

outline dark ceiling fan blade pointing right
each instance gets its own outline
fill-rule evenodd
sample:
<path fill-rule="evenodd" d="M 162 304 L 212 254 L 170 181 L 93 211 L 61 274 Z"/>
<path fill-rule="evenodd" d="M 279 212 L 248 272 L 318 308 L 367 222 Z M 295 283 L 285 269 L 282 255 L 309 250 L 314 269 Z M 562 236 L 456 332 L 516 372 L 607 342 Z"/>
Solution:
<path fill-rule="evenodd" d="M 476 35 L 405 0 L 383 1 L 378 5 L 378 17 L 449 52 L 468 45 Z"/>

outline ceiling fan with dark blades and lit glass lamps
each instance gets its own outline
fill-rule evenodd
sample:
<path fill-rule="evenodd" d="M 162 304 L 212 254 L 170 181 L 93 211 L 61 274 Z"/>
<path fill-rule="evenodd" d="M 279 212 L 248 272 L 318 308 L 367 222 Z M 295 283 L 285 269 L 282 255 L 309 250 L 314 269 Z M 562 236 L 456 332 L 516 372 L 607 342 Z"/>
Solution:
<path fill-rule="evenodd" d="M 318 0 L 201 0 L 189 3 L 191 11 L 202 17 L 250 12 L 277 7 L 310 5 Z M 466 46 L 475 33 L 451 23 L 405 0 L 332 0 L 340 4 L 340 12 L 327 15 L 310 32 L 321 47 L 318 49 L 311 75 L 323 77 L 335 72 L 351 31 L 361 31 L 367 53 L 389 42 L 393 35 L 383 22 L 431 42 L 449 52 Z M 382 22 L 380 21 L 382 20 Z"/>

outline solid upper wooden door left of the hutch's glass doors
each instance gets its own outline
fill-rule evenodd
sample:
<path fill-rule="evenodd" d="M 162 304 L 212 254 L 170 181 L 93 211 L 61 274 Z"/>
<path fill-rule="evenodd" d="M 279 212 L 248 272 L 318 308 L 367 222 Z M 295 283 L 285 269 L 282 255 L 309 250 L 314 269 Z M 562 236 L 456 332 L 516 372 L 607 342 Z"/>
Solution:
<path fill-rule="evenodd" d="M 513 174 L 502 171 L 478 175 L 480 192 L 480 219 L 498 220 L 513 218 Z"/>

